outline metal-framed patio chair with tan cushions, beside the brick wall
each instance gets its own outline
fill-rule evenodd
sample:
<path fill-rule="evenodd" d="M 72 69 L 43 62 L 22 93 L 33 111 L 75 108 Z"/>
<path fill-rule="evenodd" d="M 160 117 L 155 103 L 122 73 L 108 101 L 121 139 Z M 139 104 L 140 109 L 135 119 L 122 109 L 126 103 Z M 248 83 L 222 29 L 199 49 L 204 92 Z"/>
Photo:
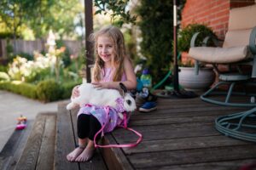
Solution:
<path fill-rule="evenodd" d="M 209 40 L 212 40 L 218 46 L 217 39 L 206 37 L 202 42 L 203 47 L 195 47 L 197 32 L 191 40 L 189 56 L 196 60 L 195 68 L 198 71 L 198 63 L 205 62 L 212 64 L 215 71 L 218 72 L 219 82 L 201 95 L 201 99 L 217 105 L 230 106 L 256 106 L 253 101 L 256 94 L 248 93 L 248 86 L 256 86 L 253 78 L 256 77 L 256 5 L 230 9 L 229 30 L 224 38 L 223 47 L 206 47 Z M 229 65 L 230 71 L 222 72 L 218 70 L 218 65 Z M 244 65 L 253 65 L 252 71 L 246 73 L 241 67 Z M 234 71 L 235 69 L 235 71 Z M 240 85 L 240 86 L 237 86 Z M 226 92 L 220 91 L 220 88 L 228 86 Z M 234 88 L 243 88 L 241 91 Z M 212 98 L 219 94 L 226 95 L 224 101 L 219 98 Z M 246 95 L 245 102 L 233 102 L 231 97 L 234 94 Z"/>

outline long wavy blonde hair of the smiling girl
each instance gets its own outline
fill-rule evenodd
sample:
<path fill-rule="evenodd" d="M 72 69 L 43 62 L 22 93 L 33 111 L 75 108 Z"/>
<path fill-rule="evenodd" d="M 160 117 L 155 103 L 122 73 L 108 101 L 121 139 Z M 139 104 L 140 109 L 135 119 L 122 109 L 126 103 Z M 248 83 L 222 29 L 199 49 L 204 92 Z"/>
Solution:
<path fill-rule="evenodd" d="M 115 26 L 103 27 L 101 30 L 96 31 L 90 35 L 90 40 L 94 42 L 96 61 L 93 68 L 93 79 L 96 82 L 102 79 L 102 69 L 104 67 L 104 61 L 97 53 L 97 39 L 101 36 L 110 37 L 113 40 L 113 60 L 112 64 L 114 69 L 113 81 L 120 81 L 124 73 L 124 59 L 126 57 L 125 39 L 123 33 L 119 28 Z"/>

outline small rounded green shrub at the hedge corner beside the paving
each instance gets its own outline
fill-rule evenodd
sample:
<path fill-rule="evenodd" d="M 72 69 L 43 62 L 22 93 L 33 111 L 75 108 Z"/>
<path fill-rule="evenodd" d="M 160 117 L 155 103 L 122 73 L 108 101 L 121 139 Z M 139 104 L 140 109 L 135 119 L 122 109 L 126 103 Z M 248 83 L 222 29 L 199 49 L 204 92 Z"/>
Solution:
<path fill-rule="evenodd" d="M 55 80 L 49 79 L 38 83 L 38 99 L 44 102 L 61 99 L 63 88 Z"/>

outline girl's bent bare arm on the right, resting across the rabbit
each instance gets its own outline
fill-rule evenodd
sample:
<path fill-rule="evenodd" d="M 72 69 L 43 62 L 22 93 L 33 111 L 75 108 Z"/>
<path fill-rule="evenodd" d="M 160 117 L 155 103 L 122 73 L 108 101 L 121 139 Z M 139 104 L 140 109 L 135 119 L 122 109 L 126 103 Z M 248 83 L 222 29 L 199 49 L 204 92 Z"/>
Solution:
<path fill-rule="evenodd" d="M 136 89 L 137 79 L 131 65 L 131 61 L 125 57 L 124 60 L 126 81 L 122 82 L 128 90 Z M 119 89 L 119 82 L 92 82 L 96 88 L 117 88 Z"/>

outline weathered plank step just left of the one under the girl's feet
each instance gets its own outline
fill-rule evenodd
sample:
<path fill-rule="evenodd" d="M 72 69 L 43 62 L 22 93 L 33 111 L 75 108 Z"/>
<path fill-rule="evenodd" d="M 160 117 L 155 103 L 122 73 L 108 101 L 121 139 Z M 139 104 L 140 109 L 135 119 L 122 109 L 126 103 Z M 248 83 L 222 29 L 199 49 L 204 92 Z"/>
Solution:
<path fill-rule="evenodd" d="M 15 169 L 53 169 L 55 122 L 55 114 L 38 114 Z"/>

